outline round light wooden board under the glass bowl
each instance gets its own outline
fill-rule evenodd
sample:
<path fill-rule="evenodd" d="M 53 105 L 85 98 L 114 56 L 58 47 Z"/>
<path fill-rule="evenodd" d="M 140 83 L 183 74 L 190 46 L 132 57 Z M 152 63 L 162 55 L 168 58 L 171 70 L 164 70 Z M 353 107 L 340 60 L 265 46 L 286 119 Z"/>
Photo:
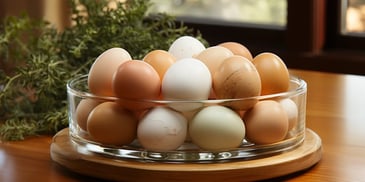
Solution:
<path fill-rule="evenodd" d="M 71 142 L 68 129 L 51 144 L 53 161 L 77 173 L 116 181 L 254 181 L 283 176 L 316 164 L 322 156 L 320 137 L 306 130 L 304 143 L 278 155 L 215 163 L 162 163 L 115 160 L 87 151 Z"/>

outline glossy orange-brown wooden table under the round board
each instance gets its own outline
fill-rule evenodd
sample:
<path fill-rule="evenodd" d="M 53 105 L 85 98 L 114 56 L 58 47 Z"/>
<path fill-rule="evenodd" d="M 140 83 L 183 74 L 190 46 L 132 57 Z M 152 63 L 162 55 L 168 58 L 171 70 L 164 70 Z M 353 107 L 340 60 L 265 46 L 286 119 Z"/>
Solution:
<path fill-rule="evenodd" d="M 365 180 L 365 77 L 291 70 L 308 84 L 307 127 L 322 139 L 323 156 L 286 181 Z M 52 136 L 0 144 L 0 181 L 100 181 L 51 160 Z M 237 179 L 241 181 L 242 179 Z"/>

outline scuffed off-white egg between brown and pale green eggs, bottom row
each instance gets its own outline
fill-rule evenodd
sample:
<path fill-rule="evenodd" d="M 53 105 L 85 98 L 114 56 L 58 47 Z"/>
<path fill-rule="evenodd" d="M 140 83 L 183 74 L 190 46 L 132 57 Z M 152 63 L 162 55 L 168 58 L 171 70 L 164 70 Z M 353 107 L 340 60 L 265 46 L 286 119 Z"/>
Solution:
<path fill-rule="evenodd" d="M 187 120 L 167 107 L 155 107 L 139 122 L 137 138 L 150 151 L 169 151 L 180 147 L 186 138 Z"/>

